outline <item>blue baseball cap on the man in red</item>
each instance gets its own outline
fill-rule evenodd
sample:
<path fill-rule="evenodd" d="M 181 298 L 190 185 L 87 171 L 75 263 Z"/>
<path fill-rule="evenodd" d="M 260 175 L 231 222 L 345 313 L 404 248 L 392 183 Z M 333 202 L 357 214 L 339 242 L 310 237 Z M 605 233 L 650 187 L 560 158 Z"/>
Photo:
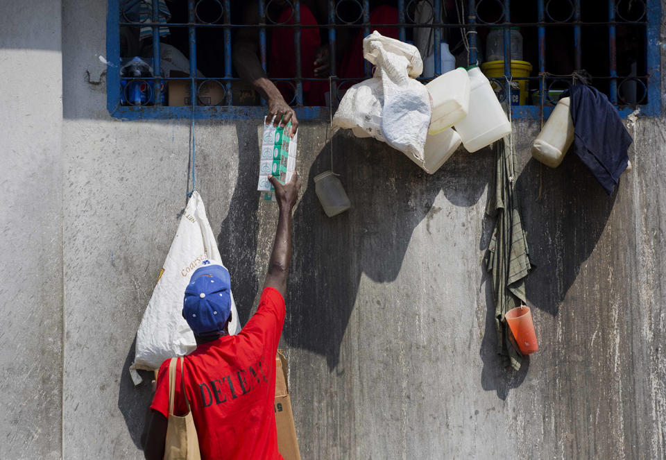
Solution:
<path fill-rule="evenodd" d="M 231 280 L 223 265 L 210 260 L 192 273 L 185 289 L 182 316 L 196 335 L 222 332 L 231 314 Z"/>

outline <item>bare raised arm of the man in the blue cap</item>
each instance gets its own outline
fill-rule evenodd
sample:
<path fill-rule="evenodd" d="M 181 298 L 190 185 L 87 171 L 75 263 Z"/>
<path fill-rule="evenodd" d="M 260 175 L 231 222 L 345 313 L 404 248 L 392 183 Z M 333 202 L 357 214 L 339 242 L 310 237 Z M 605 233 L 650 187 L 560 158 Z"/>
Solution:
<path fill-rule="evenodd" d="M 285 185 L 280 184 L 275 176 L 270 176 L 268 180 L 275 187 L 280 216 L 278 217 L 278 229 L 275 230 L 273 253 L 271 253 L 271 261 L 268 262 L 268 273 L 266 273 L 264 288 L 273 287 L 278 289 L 282 298 L 286 298 L 287 275 L 289 275 L 289 265 L 291 264 L 291 210 L 298 198 L 300 179 L 298 173 L 294 172 L 291 181 Z"/>

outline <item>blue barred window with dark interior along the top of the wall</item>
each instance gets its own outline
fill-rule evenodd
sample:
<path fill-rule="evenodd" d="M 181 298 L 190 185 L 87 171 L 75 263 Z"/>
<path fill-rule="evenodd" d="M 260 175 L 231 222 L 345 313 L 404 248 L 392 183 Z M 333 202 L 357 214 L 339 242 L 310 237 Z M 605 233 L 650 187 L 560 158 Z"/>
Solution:
<path fill-rule="evenodd" d="M 479 63 L 514 118 L 547 117 L 579 82 L 655 117 L 660 18 L 659 0 L 109 0 L 108 109 L 257 119 L 279 92 L 299 119 L 327 119 L 371 75 L 361 44 L 377 30 L 417 46 L 423 83 Z"/>

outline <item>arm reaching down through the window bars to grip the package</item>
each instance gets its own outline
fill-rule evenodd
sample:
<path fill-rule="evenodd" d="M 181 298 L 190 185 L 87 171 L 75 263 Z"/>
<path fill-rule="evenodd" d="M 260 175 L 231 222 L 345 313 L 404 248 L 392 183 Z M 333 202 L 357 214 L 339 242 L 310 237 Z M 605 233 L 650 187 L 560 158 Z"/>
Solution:
<path fill-rule="evenodd" d="M 246 4 L 243 11 L 243 23 L 258 23 L 259 10 L 256 2 Z M 278 90 L 278 87 L 268 79 L 266 72 L 259 62 L 259 29 L 241 28 L 234 41 L 233 60 L 238 75 L 250 83 L 254 90 L 268 101 L 268 118 L 273 119 L 275 126 L 287 126 L 291 121 L 291 133 L 293 137 L 298 129 L 298 119 L 287 101 Z"/>

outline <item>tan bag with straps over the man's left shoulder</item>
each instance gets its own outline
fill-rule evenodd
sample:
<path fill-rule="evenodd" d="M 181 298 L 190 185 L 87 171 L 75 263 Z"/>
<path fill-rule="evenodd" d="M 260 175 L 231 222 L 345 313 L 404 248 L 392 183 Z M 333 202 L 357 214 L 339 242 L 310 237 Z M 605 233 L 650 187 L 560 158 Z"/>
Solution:
<path fill-rule="evenodd" d="M 173 415 L 178 361 L 180 361 L 182 395 L 187 403 L 187 414 L 182 417 Z M 189 409 L 189 401 L 185 394 L 185 368 L 183 368 L 182 357 L 171 358 L 169 361 L 169 425 L 167 425 L 167 442 L 164 445 L 164 460 L 201 460 L 194 418 L 192 418 L 192 411 Z"/>

